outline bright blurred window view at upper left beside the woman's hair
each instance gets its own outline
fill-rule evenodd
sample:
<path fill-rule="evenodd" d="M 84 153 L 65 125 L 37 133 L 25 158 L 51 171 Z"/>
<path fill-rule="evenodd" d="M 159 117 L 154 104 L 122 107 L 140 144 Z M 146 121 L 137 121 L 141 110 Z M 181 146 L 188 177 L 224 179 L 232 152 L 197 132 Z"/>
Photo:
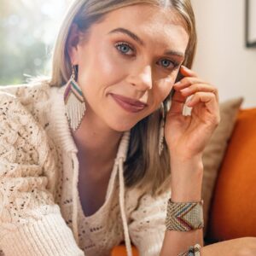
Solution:
<path fill-rule="evenodd" d="M 0 0 L 0 84 L 47 75 L 49 57 L 71 0 Z"/>

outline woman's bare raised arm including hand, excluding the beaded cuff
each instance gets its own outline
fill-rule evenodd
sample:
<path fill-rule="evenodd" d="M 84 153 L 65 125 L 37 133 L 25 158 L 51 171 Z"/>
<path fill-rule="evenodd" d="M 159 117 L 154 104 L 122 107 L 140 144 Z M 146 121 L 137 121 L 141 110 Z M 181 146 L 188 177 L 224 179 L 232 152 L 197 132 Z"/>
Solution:
<path fill-rule="evenodd" d="M 220 120 L 218 90 L 186 67 L 181 67 L 180 72 L 184 78 L 173 85 L 175 94 L 165 125 L 171 160 L 172 201 L 198 202 L 203 177 L 201 156 Z M 192 108 L 191 115 L 183 115 L 184 105 Z M 160 256 L 177 256 L 196 243 L 203 246 L 202 230 L 166 230 Z"/>

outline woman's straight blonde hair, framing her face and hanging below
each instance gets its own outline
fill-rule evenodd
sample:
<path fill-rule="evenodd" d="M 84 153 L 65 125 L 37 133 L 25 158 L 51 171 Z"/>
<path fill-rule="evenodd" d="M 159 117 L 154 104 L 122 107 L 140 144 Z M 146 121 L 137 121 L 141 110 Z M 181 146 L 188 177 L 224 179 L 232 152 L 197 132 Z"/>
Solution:
<path fill-rule="evenodd" d="M 61 86 L 66 84 L 71 76 L 72 65 L 67 53 L 67 40 L 73 23 L 77 24 L 79 30 L 85 33 L 88 32 L 92 24 L 100 22 L 108 12 L 142 3 L 175 10 L 182 18 L 184 28 L 189 34 L 189 44 L 183 65 L 190 68 L 194 60 L 197 41 L 195 16 L 190 0 L 76 0 L 62 22 L 55 43 L 52 76 L 49 84 Z M 164 101 L 165 112 L 172 100 L 171 94 Z M 125 161 L 125 185 L 127 187 L 137 186 L 152 195 L 157 195 L 166 189 L 171 174 L 170 154 L 166 144 L 161 156 L 158 154 L 160 116 L 160 110 L 158 110 L 139 121 L 131 129 L 131 141 Z"/>

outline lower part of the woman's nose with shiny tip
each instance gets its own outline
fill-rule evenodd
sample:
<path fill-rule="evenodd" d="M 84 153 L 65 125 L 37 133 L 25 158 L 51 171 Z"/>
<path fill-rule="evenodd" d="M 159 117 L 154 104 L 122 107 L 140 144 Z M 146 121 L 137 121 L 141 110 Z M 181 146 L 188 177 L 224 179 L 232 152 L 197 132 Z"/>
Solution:
<path fill-rule="evenodd" d="M 137 90 L 152 89 L 152 70 L 148 65 L 140 69 L 139 72 L 129 77 L 129 83 L 137 87 Z"/>

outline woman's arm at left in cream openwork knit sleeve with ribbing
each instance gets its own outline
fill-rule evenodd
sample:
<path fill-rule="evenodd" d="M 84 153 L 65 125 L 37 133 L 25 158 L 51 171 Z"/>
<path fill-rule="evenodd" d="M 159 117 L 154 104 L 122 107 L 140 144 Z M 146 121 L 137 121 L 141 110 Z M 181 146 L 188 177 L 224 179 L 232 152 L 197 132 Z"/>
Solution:
<path fill-rule="evenodd" d="M 84 255 L 48 188 L 57 170 L 44 131 L 13 96 L 0 93 L 0 106 L 0 248 L 6 256 Z"/>

